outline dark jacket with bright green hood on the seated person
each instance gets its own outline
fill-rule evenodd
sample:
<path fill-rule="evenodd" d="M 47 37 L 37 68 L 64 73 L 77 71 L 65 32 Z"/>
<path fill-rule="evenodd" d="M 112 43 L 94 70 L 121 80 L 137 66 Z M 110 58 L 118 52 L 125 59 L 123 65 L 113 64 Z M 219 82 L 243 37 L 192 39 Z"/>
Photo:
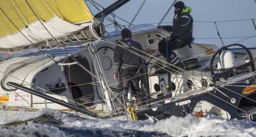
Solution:
<path fill-rule="evenodd" d="M 191 8 L 186 6 L 181 14 L 175 14 L 173 18 L 172 37 L 181 41 L 192 40 L 193 18 L 190 15 Z"/>

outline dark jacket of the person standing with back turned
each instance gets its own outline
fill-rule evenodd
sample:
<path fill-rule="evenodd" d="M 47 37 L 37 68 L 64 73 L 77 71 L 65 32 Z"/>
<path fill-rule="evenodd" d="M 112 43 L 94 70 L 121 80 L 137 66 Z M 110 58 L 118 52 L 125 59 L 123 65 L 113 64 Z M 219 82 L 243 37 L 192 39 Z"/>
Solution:
<path fill-rule="evenodd" d="M 132 41 L 130 38 L 122 39 L 121 41 L 122 43 L 126 43 L 128 48 L 116 46 L 114 49 L 114 75 L 117 75 L 121 69 L 139 68 L 140 65 L 145 64 L 145 59 L 133 53 L 135 52 L 143 56 L 142 52 L 140 52 L 143 51 L 141 44 Z"/>

